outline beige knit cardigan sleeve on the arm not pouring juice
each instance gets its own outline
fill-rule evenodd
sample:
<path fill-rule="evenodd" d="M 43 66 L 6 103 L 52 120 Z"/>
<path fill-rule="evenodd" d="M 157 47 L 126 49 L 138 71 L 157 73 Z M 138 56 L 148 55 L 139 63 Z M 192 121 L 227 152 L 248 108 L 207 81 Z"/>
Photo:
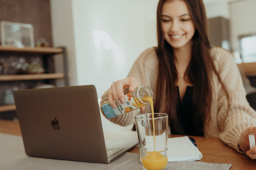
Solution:
<path fill-rule="evenodd" d="M 224 49 L 218 53 L 219 75 L 228 91 L 230 104 L 228 110 L 228 99 L 220 86 L 218 99 L 220 139 L 237 152 L 243 153 L 239 150 L 238 141 L 242 130 L 252 125 L 256 126 L 256 112 L 246 100 L 242 78 L 233 55 Z"/>

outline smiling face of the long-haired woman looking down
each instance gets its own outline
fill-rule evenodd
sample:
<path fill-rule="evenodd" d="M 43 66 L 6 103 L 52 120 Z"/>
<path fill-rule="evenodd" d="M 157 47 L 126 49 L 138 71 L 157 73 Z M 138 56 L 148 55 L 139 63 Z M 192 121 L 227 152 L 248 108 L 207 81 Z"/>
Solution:
<path fill-rule="evenodd" d="M 183 0 L 167 0 L 163 4 L 161 26 L 165 41 L 173 49 L 191 48 L 195 26 Z"/>

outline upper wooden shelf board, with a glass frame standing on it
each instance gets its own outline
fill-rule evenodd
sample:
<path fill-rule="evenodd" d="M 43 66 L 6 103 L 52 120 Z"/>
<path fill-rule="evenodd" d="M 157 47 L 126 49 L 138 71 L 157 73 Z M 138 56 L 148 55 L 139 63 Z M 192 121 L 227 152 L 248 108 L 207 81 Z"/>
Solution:
<path fill-rule="evenodd" d="M 53 48 L 53 47 L 24 47 L 17 48 L 11 46 L 0 46 L 1 52 L 16 52 L 16 53 L 36 53 L 36 54 L 58 54 L 62 52 L 62 48 Z"/>

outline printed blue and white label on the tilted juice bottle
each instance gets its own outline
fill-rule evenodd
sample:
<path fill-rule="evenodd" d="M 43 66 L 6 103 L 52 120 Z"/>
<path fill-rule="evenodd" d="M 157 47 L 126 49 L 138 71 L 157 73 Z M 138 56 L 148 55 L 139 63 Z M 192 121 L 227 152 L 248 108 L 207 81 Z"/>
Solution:
<path fill-rule="evenodd" d="M 116 103 L 116 101 L 115 101 L 115 103 Z M 101 109 L 108 119 L 116 117 L 118 115 L 122 115 L 124 113 L 130 112 L 132 110 L 139 108 L 137 106 L 137 104 L 135 103 L 131 93 L 128 93 L 125 95 L 125 103 L 123 103 L 121 105 L 118 105 L 116 103 L 116 107 L 117 108 L 113 108 L 109 104 L 109 102 L 101 105 Z"/>

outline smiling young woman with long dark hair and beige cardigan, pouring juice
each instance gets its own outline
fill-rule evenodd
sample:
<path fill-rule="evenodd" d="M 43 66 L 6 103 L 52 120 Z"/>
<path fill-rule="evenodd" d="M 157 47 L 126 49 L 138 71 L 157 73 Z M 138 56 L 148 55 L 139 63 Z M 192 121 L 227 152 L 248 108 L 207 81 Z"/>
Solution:
<path fill-rule="evenodd" d="M 211 47 L 202 0 L 160 0 L 157 7 L 158 46 L 144 51 L 127 78 L 118 80 L 102 96 L 116 108 L 124 90 L 147 85 L 154 92 L 155 113 L 168 113 L 172 134 L 219 137 L 237 152 L 256 159 L 249 134 L 256 136 L 256 113 L 245 98 L 240 72 L 227 50 Z M 134 123 L 141 112 L 110 121 Z"/>

